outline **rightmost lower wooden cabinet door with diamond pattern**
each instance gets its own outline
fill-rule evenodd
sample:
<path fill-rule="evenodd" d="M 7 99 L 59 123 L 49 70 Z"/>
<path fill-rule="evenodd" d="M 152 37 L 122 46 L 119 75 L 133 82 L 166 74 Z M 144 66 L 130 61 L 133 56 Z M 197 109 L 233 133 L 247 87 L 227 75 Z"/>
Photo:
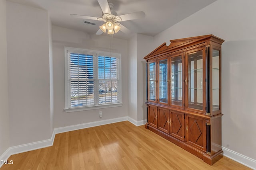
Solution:
<path fill-rule="evenodd" d="M 206 119 L 186 115 L 186 142 L 206 151 Z"/>

